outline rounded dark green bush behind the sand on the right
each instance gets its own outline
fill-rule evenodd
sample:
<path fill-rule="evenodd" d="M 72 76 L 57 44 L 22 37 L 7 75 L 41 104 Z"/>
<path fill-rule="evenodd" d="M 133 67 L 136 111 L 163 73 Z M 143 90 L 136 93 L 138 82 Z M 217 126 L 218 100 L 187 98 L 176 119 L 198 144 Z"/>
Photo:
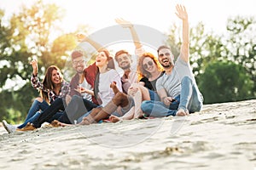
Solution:
<path fill-rule="evenodd" d="M 252 96 L 253 81 L 241 65 L 215 61 L 201 75 L 199 88 L 206 104 L 238 101 Z"/>

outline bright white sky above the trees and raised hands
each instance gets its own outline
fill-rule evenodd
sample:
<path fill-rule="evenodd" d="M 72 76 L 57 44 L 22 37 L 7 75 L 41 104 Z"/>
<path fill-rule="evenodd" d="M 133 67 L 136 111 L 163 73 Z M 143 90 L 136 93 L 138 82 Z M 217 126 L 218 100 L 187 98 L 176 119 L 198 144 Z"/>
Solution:
<path fill-rule="evenodd" d="M 124 18 L 134 24 L 150 26 L 163 33 L 172 23 L 179 23 L 175 15 L 177 3 L 185 5 L 190 26 L 204 23 L 207 31 L 223 33 L 228 17 L 255 16 L 255 0 L 43 0 L 54 2 L 66 10 L 62 27 L 74 31 L 80 24 L 89 25 L 90 31 L 113 26 L 114 19 Z M 1 0 L 0 8 L 6 14 L 20 10 L 20 4 L 31 5 L 35 0 Z"/>

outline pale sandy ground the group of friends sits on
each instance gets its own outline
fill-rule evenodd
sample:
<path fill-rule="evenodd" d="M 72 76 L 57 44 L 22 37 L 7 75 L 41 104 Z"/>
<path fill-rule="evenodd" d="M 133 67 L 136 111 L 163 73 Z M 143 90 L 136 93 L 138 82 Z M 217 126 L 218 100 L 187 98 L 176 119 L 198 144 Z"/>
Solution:
<path fill-rule="evenodd" d="M 0 169 L 256 169 L 256 100 L 204 105 L 184 117 L 0 127 Z"/>

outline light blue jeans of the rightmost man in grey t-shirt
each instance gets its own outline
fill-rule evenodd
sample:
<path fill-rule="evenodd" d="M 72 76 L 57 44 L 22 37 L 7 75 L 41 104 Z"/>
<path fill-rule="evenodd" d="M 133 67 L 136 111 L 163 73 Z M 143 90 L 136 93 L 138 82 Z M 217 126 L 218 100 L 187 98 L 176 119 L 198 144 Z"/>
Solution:
<path fill-rule="evenodd" d="M 176 116 L 178 109 L 189 111 L 201 111 L 203 98 L 197 85 L 189 77 L 183 77 L 181 82 L 181 94 L 175 97 L 177 101 L 166 106 L 161 101 L 143 101 L 141 109 L 144 116 L 163 117 Z"/>

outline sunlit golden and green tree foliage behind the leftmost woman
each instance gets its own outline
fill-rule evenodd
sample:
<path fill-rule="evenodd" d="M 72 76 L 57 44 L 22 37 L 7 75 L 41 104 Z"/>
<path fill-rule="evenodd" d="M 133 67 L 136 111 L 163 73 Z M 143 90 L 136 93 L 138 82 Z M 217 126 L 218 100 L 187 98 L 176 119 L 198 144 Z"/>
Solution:
<path fill-rule="evenodd" d="M 29 62 L 38 59 L 39 76 L 49 65 L 67 69 L 66 61 L 76 47 L 73 33 L 63 33 L 58 27 L 63 10 L 55 4 L 34 3 L 22 7 L 3 22 L 4 11 L 0 11 L 0 119 L 23 120 L 38 96 L 32 88 Z M 70 76 L 70 75 L 69 75 Z"/>

